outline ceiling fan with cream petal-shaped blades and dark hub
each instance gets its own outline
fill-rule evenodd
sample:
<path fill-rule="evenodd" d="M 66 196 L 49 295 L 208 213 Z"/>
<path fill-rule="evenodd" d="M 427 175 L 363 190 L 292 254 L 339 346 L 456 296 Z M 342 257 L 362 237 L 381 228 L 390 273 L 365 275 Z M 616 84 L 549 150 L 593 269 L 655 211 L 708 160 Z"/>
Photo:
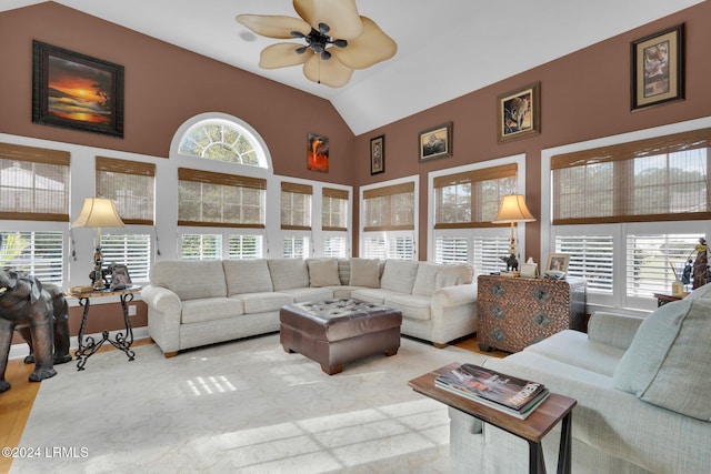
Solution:
<path fill-rule="evenodd" d="M 361 17 L 356 0 L 293 0 L 301 18 L 240 14 L 237 21 L 257 34 L 301 39 L 306 44 L 281 42 L 264 48 L 259 67 L 303 64 L 311 81 L 332 88 L 350 81 L 354 69 L 365 69 L 392 58 L 398 44 L 370 18 Z"/>

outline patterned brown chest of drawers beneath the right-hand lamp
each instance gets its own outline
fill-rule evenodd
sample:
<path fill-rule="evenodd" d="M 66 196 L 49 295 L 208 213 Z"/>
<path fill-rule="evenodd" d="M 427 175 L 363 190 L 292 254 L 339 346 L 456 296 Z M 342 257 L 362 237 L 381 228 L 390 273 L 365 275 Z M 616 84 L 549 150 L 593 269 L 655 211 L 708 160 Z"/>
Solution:
<path fill-rule="evenodd" d="M 482 351 L 519 352 L 567 329 L 587 330 L 583 279 L 480 275 L 477 299 Z"/>

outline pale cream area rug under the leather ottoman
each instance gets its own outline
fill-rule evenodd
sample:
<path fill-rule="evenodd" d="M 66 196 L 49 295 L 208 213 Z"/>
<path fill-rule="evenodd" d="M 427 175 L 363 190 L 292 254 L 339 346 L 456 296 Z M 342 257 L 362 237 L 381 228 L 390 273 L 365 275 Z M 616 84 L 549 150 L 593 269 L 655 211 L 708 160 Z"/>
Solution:
<path fill-rule="evenodd" d="M 408 381 L 483 359 L 403 337 L 329 376 L 278 334 L 98 353 L 41 383 L 11 473 L 447 473 L 447 409 Z"/>

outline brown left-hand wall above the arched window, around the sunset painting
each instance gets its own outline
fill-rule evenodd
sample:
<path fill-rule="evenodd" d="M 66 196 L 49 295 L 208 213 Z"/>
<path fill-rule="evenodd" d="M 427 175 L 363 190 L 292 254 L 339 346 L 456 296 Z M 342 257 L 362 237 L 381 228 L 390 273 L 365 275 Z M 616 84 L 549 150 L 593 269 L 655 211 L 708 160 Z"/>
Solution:
<path fill-rule="evenodd" d="M 32 123 L 32 40 L 124 67 L 123 139 Z M 223 112 L 259 132 L 276 174 L 352 181 L 354 137 L 323 99 L 53 2 L 0 13 L 0 44 L 2 133 L 168 158 L 186 120 Z M 306 168 L 309 132 L 330 138 L 328 174 Z"/>

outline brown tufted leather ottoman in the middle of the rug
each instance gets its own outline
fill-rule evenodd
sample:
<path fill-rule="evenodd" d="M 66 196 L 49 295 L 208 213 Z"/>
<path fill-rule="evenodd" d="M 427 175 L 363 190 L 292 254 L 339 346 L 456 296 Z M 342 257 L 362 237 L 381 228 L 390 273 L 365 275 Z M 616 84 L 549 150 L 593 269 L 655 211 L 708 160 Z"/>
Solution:
<path fill-rule="evenodd" d="M 348 362 L 400 347 L 402 313 L 394 307 L 353 299 L 288 304 L 279 312 L 280 341 L 321 364 L 329 375 Z"/>

